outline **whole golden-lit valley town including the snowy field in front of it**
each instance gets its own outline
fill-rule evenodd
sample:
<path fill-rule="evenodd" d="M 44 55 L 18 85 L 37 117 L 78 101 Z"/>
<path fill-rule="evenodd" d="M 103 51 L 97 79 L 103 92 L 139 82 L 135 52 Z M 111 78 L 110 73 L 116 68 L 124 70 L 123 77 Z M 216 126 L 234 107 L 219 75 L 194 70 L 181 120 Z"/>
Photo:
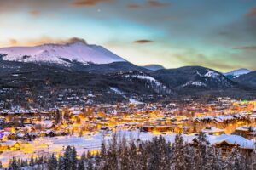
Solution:
<path fill-rule="evenodd" d="M 250 154 L 256 142 L 256 101 L 217 98 L 160 103 L 118 103 L 42 109 L 0 111 L 0 161 L 8 165 L 12 156 L 62 155 L 67 145 L 78 154 L 100 150 L 102 139 L 113 133 L 148 140 L 163 136 L 171 143 L 181 133 L 184 141 L 197 144 L 200 133 L 223 154 L 238 146 Z"/>

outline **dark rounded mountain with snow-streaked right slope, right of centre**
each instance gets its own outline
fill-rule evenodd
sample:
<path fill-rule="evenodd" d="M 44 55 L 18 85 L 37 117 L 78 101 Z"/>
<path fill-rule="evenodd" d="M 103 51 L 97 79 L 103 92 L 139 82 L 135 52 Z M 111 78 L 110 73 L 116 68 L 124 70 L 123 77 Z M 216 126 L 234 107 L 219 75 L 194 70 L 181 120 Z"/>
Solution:
<path fill-rule="evenodd" d="M 177 69 L 154 71 L 152 75 L 169 87 L 182 90 L 183 88 L 218 89 L 232 88 L 236 85 L 218 71 L 201 66 L 186 66 Z"/>

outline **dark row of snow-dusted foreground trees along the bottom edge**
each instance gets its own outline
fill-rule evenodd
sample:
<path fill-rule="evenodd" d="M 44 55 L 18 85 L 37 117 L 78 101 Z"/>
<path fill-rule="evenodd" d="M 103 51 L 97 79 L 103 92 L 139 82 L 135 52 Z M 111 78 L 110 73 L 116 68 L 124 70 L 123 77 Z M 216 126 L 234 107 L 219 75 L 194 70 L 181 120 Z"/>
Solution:
<path fill-rule="evenodd" d="M 173 144 L 163 137 L 140 142 L 127 141 L 125 136 L 113 135 L 110 141 L 102 143 L 96 155 L 90 152 L 77 158 L 74 147 L 68 146 L 63 156 L 33 160 L 30 167 L 49 170 L 253 170 L 256 169 L 256 152 L 245 156 L 235 147 L 225 157 L 221 150 L 207 143 L 201 134 L 197 147 L 184 143 L 178 134 Z M 107 144 L 106 144 L 107 143 Z M 20 162 L 23 162 L 21 164 Z M 26 162 L 26 163 L 24 163 Z M 27 161 L 10 161 L 10 169 L 27 167 Z"/>

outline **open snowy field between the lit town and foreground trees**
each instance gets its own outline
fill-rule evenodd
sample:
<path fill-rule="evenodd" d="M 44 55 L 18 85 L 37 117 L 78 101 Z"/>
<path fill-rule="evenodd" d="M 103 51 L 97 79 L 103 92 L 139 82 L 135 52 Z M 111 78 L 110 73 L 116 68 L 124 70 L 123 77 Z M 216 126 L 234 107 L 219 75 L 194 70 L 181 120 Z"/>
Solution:
<path fill-rule="evenodd" d="M 138 133 L 138 131 L 122 131 L 119 132 L 120 135 L 125 133 L 127 139 L 139 139 L 141 140 L 150 140 L 156 134 L 152 133 Z M 170 133 L 164 135 L 166 140 L 174 141 L 175 134 Z M 189 141 L 193 136 L 184 136 L 184 140 Z M 80 156 L 84 151 L 87 150 L 98 150 L 102 144 L 103 135 L 102 133 L 97 133 L 94 136 L 84 136 L 84 137 L 75 137 L 75 136 L 66 136 L 66 137 L 56 137 L 56 138 L 38 138 L 32 142 L 20 142 L 21 150 L 19 151 L 8 151 L 0 154 L 0 161 L 3 162 L 3 165 L 9 163 L 9 160 L 15 156 L 16 158 L 22 159 L 30 159 L 31 156 L 48 156 L 50 153 L 61 154 L 63 149 L 67 147 L 67 145 L 73 145 L 76 147 L 78 155 Z M 109 136 L 105 137 L 105 139 L 110 139 Z"/>

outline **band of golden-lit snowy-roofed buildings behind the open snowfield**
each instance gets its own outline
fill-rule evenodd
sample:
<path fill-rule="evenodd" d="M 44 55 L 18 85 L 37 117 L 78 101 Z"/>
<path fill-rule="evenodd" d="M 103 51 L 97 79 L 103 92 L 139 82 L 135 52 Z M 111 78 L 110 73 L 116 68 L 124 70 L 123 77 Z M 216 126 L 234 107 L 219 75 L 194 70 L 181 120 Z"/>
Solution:
<path fill-rule="evenodd" d="M 236 139 L 247 141 L 251 147 L 256 133 L 255 108 L 253 101 L 216 99 L 207 103 L 186 100 L 169 104 L 78 105 L 47 110 L 2 109 L 0 151 L 20 150 L 22 144 L 36 138 L 110 135 L 119 130 L 154 135 L 185 133 L 195 136 L 191 144 L 196 144 L 198 133 L 207 133 L 209 139 L 215 141 L 212 144 L 218 147 L 223 144 L 232 147 L 234 142 L 230 140 Z"/>

